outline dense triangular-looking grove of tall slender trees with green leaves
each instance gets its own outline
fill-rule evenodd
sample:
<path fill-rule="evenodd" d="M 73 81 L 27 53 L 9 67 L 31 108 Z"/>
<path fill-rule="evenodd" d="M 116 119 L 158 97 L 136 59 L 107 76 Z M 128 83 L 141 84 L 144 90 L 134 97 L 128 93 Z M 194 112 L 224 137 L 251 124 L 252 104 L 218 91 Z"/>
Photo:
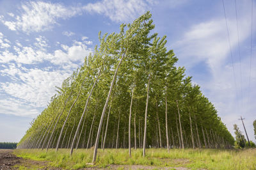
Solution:
<path fill-rule="evenodd" d="M 176 67 L 150 12 L 119 33 L 99 33 L 18 148 L 230 148 L 234 138 L 200 87 Z"/>

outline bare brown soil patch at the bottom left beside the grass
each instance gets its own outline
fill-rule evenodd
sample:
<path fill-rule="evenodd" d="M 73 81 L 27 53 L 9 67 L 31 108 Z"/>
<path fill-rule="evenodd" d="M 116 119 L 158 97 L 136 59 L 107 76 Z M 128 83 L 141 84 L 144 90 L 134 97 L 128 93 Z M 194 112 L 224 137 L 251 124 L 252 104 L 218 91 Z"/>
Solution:
<path fill-rule="evenodd" d="M 16 157 L 13 150 L 0 150 L 0 169 L 56 169 L 48 162 Z"/>

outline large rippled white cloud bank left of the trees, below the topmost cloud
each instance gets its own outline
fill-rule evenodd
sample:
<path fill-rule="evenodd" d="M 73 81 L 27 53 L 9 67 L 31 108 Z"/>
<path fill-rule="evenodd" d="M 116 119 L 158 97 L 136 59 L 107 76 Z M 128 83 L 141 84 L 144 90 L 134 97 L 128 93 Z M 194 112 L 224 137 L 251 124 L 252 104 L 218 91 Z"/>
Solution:
<path fill-rule="evenodd" d="M 3 37 L 3 34 L 0 33 L 0 36 Z M 6 102 L 6 105 L 0 105 L 0 110 L 4 113 L 36 116 L 40 110 L 38 108 L 46 107 L 47 102 L 54 95 L 54 87 L 61 86 L 63 80 L 81 65 L 84 57 L 92 52 L 92 49 L 88 49 L 84 42 L 77 41 L 70 46 L 61 44 L 60 47 L 63 50 L 48 52 L 47 42 L 44 36 L 38 36 L 33 45 L 23 47 L 16 41 L 19 46 L 13 46 L 12 52 L 7 49 L 0 51 L 0 63 L 4 63 L 0 76 L 10 79 L 10 81 L 0 83 L 0 93 L 22 101 L 14 104 L 15 109 L 22 107 L 25 103 L 28 106 L 24 108 L 24 113 L 19 114 L 19 109 L 16 112 L 15 109 L 6 109 L 10 104 Z M 38 63 L 44 65 L 45 61 L 50 65 L 40 66 L 40 68 L 36 66 Z M 23 64 L 29 67 L 26 68 Z M 3 99 L 0 98 L 0 102 L 1 100 Z M 30 111 L 25 112 L 26 109 Z"/>

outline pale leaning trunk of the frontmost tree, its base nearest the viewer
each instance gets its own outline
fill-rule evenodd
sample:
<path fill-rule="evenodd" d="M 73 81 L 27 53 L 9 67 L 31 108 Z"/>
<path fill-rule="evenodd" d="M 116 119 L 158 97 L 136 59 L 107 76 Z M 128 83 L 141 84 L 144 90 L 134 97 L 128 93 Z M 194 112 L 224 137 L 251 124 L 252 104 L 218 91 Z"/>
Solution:
<path fill-rule="evenodd" d="M 109 89 L 109 93 L 108 93 L 108 98 L 106 100 L 106 103 L 104 105 L 104 108 L 103 108 L 103 111 L 102 111 L 102 114 L 101 114 L 101 117 L 100 117 L 100 124 L 99 124 L 99 128 L 98 128 L 98 132 L 97 132 L 97 137 L 96 137 L 96 141 L 95 141 L 95 148 L 94 148 L 94 153 L 93 153 L 93 159 L 92 159 L 92 163 L 94 164 L 95 163 L 95 160 L 96 160 L 96 157 L 97 157 L 97 149 L 98 149 L 98 143 L 99 143 L 99 135 L 100 135 L 100 130 L 101 130 L 101 126 L 102 126 L 102 121 L 103 121 L 103 118 L 104 118 L 104 114 L 106 112 L 106 109 L 108 107 L 108 101 L 109 101 L 109 98 L 110 98 L 110 95 L 111 95 L 111 91 L 113 89 L 113 85 L 114 85 L 114 82 L 115 82 L 115 79 L 116 79 L 116 75 L 117 75 L 117 71 L 118 71 L 118 68 L 119 66 L 121 65 L 122 63 L 122 60 L 124 59 L 124 56 L 125 56 L 125 53 L 126 53 L 126 50 L 122 56 L 122 58 L 120 59 L 119 63 L 118 63 L 118 66 L 116 67 L 116 71 L 115 71 L 115 74 L 114 74 L 114 77 L 113 77 L 113 80 L 111 82 L 111 86 L 110 86 L 110 89 Z"/>

